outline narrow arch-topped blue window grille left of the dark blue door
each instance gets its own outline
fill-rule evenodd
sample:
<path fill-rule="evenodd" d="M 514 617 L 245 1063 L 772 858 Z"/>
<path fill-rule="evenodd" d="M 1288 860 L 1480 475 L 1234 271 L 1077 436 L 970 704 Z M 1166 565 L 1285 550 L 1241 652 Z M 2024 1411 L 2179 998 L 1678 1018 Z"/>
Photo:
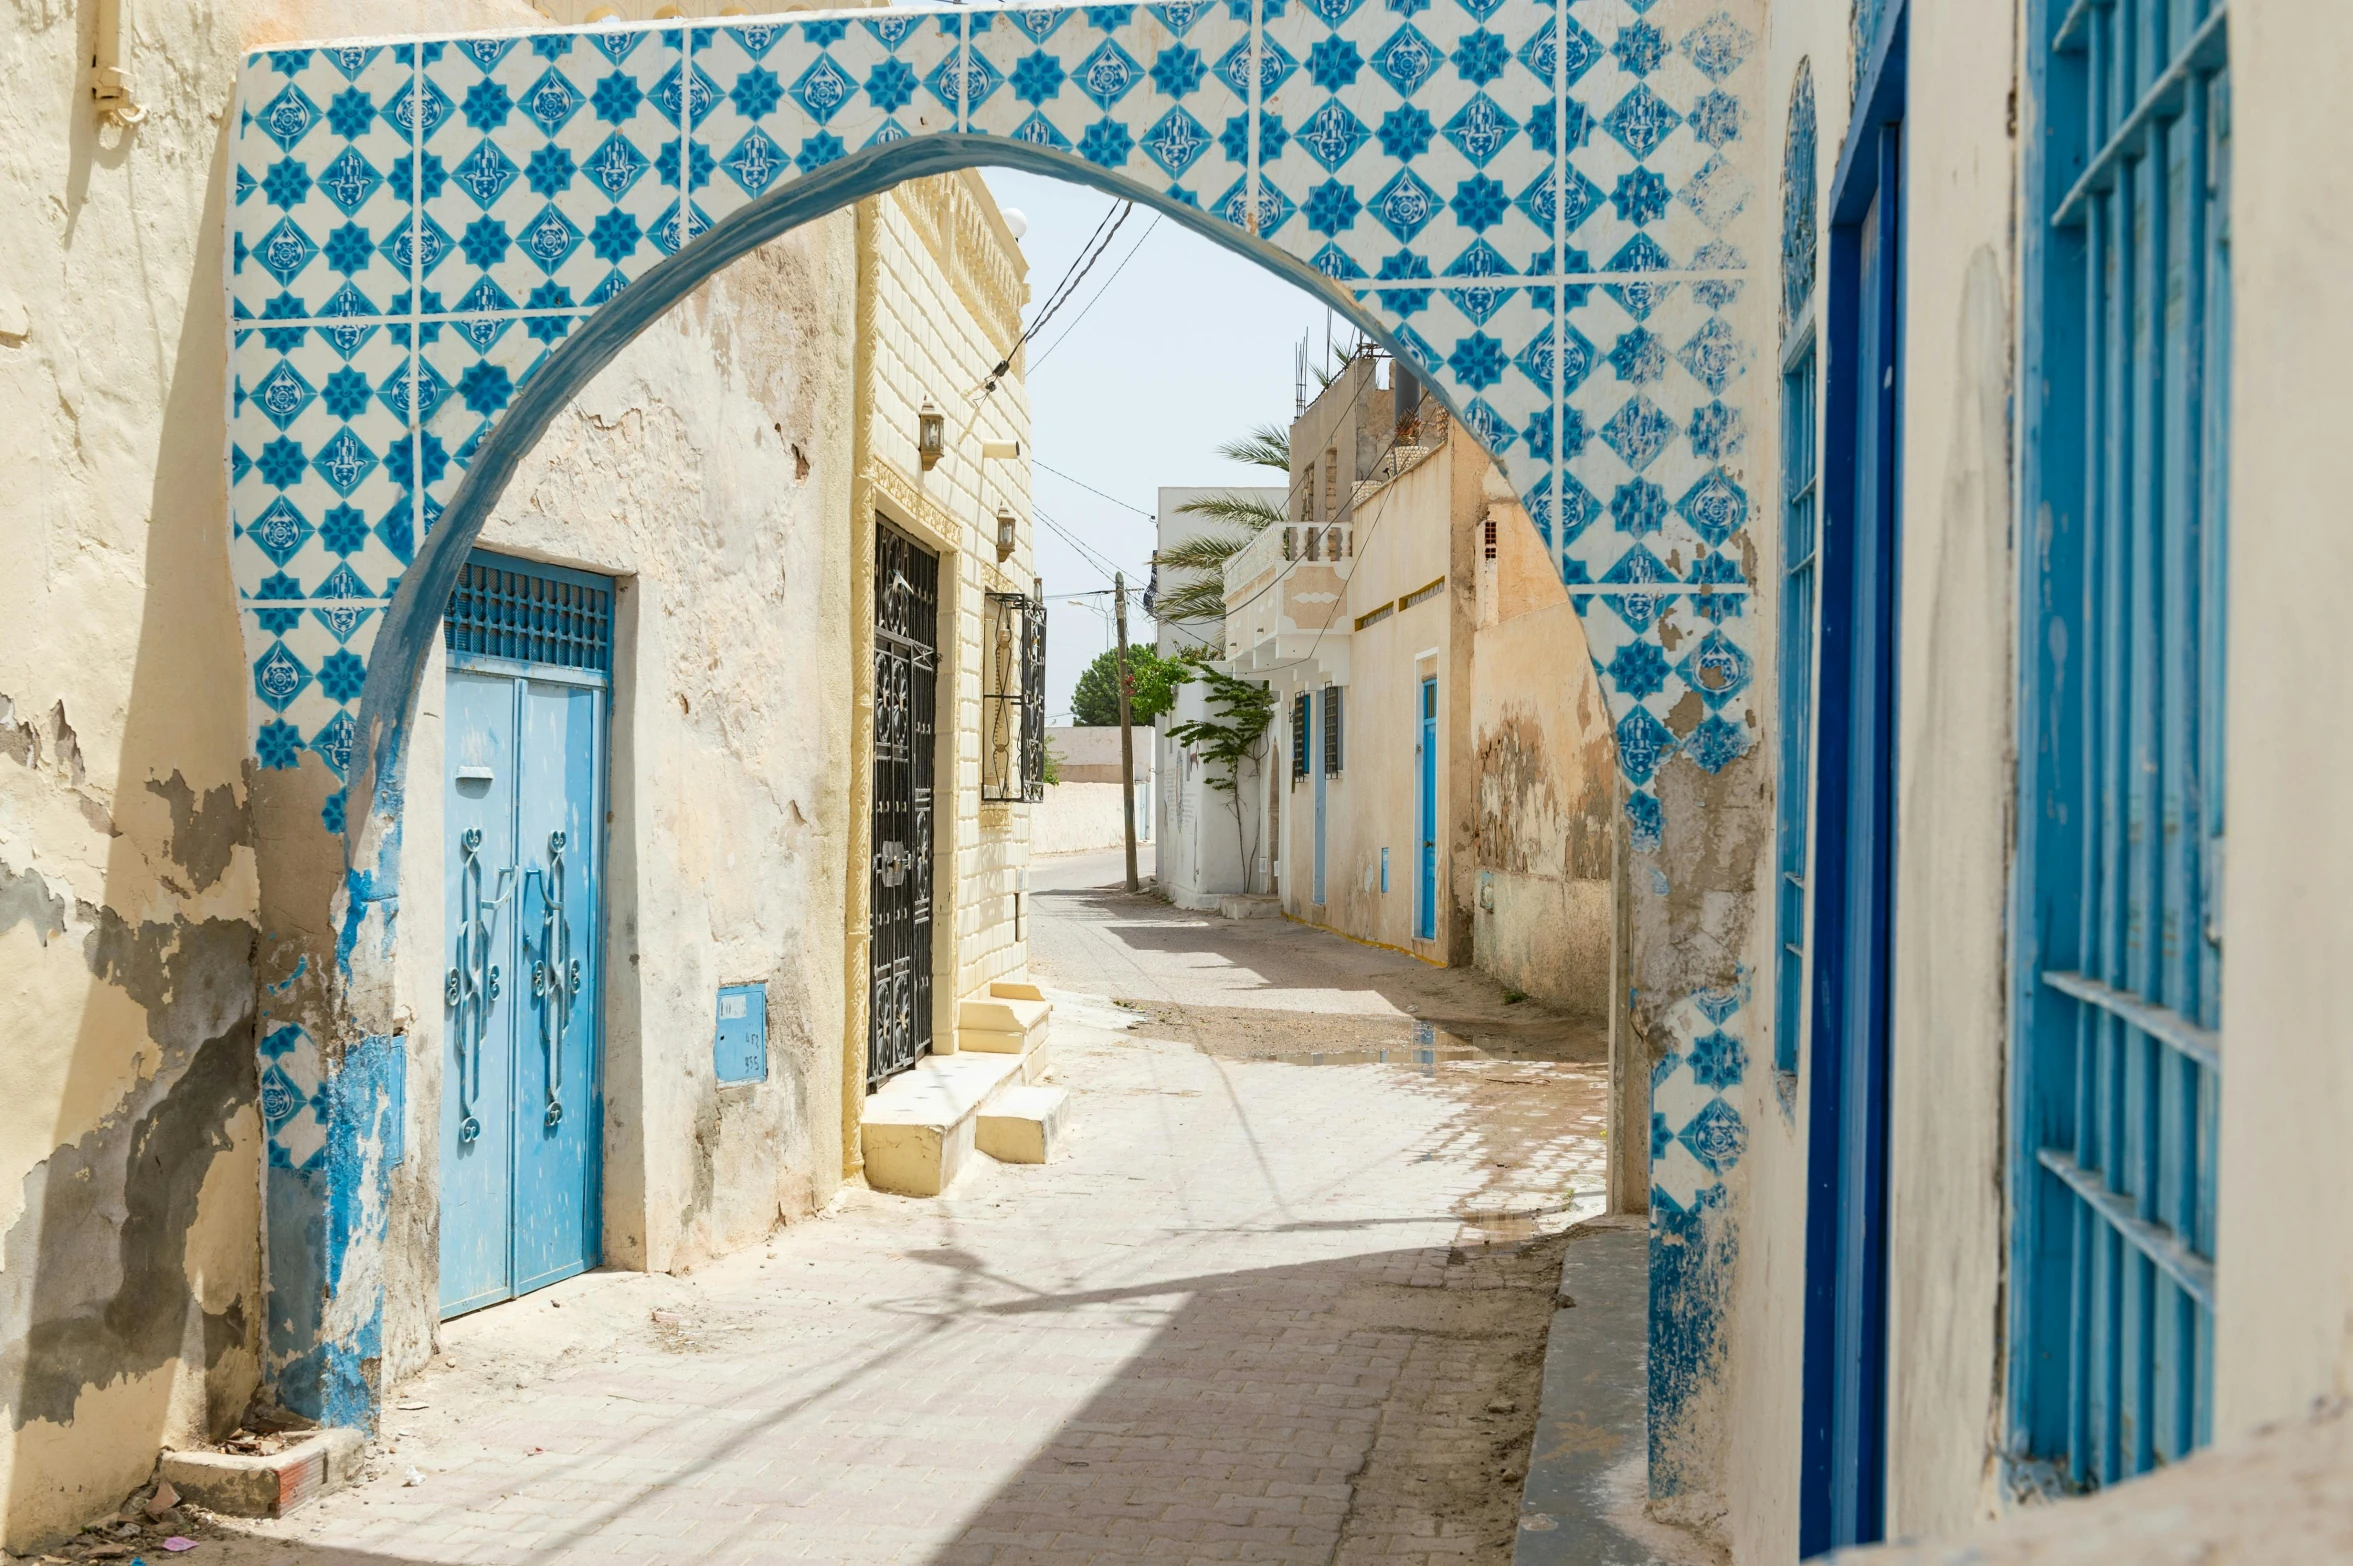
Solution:
<path fill-rule="evenodd" d="M 1781 830 L 1777 837 L 1779 978 L 1774 1070 L 1798 1070 L 1805 1025 L 1807 856 L 1814 823 L 1814 564 L 1819 440 L 1814 411 L 1814 73 L 1798 61 L 1781 165 Z"/>

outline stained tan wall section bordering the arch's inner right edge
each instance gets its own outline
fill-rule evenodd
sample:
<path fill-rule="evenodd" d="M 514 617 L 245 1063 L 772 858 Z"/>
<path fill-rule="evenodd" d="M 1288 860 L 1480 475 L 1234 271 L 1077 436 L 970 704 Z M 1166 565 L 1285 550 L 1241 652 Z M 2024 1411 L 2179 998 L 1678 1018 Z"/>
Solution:
<path fill-rule="evenodd" d="M 1473 962 L 1574 1016 L 1609 1006 L 1609 708 L 1577 607 L 1492 468 L 1471 517 Z M 1497 557 L 1485 557 L 1485 527 Z M 1567 677 L 1562 677 L 1567 672 Z"/>

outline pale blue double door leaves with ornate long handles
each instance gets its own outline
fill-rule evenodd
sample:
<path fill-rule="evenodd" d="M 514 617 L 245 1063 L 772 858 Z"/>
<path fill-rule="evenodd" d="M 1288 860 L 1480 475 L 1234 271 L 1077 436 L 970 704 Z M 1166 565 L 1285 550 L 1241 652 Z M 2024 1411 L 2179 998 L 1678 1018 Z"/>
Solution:
<path fill-rule="evenodd" d="M 598 1263 L 605 689 L 449 661 L 440 1314 Z"/>

